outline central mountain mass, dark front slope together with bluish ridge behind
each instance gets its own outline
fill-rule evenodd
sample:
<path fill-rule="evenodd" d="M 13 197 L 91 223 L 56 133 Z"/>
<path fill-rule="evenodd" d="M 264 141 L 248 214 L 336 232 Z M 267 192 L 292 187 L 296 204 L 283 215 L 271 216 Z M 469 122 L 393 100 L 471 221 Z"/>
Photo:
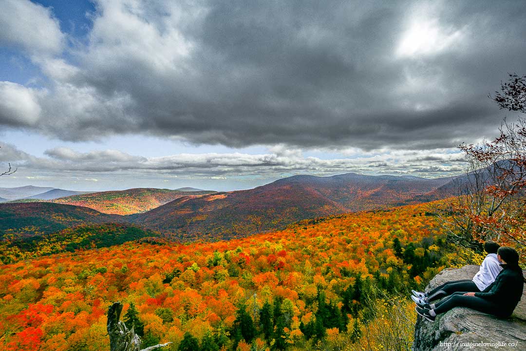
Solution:
<path fill-rule="evenodd" d="M 134 223 L 183 239 L 231 238 L 285 228 L 301 219 L 429 202 L 450 178 L 292 176 L 249 190 L 186 197 L 131 215 Z"/>

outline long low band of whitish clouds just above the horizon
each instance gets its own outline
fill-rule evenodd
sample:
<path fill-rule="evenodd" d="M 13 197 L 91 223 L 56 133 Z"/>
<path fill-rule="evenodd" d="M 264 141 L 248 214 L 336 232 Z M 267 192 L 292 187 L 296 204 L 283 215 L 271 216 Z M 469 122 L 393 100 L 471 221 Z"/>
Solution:
<path fill-rule="evenodd" d="M 398 151 L 362 153 L 348 158 L 305 157 L 300 152 L 289 155 L 276 153 L 203 153 L 176 154 L 164 157 L 130 155 L 117 150 L 99 150 L 80 153 L 70 148 L 57 147 L 45 151 L 48 157 L 35 157 L 19 151 L 9 144 L 2 144 L 0 161 L 11 161 L 21 170 L 36 174 L 53 172 L 76 177 L 99 179 L 102 176 L 153 176 L 159 179 L 201 177 L 279 178 L 291 174 L 333 175 L 348 172 L 366 174 L 419 174 L 428 177 L 448 176 L 459 173 L 465 165 L 460 153 L 449 149 L 424 151 Z M 93 176 L 97 175 L 97 176 Z M 219 179 L 219 178 L 217 178 Z"/>

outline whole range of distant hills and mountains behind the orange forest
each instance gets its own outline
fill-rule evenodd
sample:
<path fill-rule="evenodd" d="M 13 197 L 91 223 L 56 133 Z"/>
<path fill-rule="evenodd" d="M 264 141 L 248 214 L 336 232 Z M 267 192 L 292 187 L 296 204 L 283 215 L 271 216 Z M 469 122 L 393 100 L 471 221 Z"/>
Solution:
<path fill-rule="evenodd" d="M 20 217 L 25 218 L 22 222 L 29 231 L 48 232 L 46 228 L 57 227 L 48 222 L 64 217 L 78 220 L 59 221 L 60 229 L 83 222 L 127 222 L 183 240 L 228 239 L 282 229 L 302 219 L 431 202 L 454 195 L 452 184 L 453 178 L 348 173 L 298 175 L 254 189 L 222 193 L 136 188 L 45 200 L 54 204 L 0 204 L 0 222 L 4 222 L 0 229 L 21 228 L 22 219 L 16 219 Z M 72 211 L 78 208 L 73 216 Z M 6 211 L 13 215 L 6 215 Z M 8 224 L 12 220 L 15 227 Z"/>

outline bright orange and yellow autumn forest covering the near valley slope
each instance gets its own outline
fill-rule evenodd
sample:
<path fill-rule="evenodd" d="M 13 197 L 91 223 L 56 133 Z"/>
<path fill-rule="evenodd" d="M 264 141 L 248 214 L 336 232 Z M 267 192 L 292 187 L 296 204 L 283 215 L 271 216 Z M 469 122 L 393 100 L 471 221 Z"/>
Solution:
<path fill-rule="evenodd" d="M 307 219 L 213 243 L 151 238 L 53 256 L 39 248 L 39 257 L 2 268 L 2 347 L 109 349 L 106 311 L 116 300 L 125 304 L 123 320 L 141 347 L 361 349 L 393 342 L 373 336 L 375 328 L 407 342 L 411 325 L 399 324 L 416 315 L 403 295 L 446 264 L 446 241 L 435 223 L 439 207 Z M 118 239 L 115 231 L 124 229 L 111 230 Z M 59 233 L 65 248 L 82 237 Z"/>

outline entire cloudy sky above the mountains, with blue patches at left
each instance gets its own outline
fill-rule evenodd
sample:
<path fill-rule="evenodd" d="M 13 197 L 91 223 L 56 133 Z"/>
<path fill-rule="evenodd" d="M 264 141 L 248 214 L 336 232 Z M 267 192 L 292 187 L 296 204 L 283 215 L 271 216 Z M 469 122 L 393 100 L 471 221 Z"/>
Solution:
<path fill-rule="evenodd" d="M 519 0 L 2 0 L 0 187 L 458 175 L 525 37 Z"/>

